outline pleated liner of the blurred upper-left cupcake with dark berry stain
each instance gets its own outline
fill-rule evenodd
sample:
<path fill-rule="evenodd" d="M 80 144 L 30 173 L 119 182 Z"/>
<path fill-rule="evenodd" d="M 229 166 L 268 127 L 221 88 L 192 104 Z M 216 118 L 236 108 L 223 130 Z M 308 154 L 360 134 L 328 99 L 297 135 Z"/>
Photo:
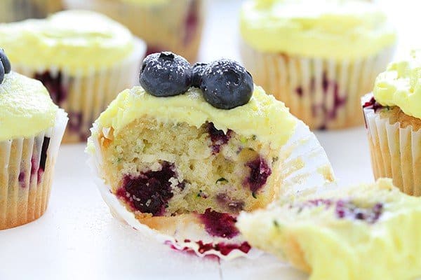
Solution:
<path fill-rule="evenodd" d="M 116 95 L 138 83 L 140 64 L 145 56 L 146 46 L 136 40 L 131 55 L 114 66 L 89 69 L 89 73 L 69 73 L 67 69 L 55 66 L 41 66 L 39 69 L 22 64 L 13 64 L 13 70 L 41 80 L 51 98 L 69 113 L 69 125 L 63 143 L 86 141 L 92 123 L 100 116 Z"/>

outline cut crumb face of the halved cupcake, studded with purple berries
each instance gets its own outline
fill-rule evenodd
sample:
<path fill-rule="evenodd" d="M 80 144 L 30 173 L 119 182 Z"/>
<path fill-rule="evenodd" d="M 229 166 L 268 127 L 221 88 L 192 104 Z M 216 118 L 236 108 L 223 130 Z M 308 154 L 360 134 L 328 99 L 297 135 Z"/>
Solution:
<path fill-rule="evenodd" d="M 145 116 L 118 134 L 100 135 L 100 143 L 105 180 L 142 216 L 236 214 L 264 207 L 275 195 L 269 186 L 278 180 L 279 151 L 255 135 Z"/>

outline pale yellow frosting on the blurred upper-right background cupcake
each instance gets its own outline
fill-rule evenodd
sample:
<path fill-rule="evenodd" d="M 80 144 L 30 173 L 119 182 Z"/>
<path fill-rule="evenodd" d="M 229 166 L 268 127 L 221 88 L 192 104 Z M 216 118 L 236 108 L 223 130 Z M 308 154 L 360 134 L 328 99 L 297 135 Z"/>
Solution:
<path fill-rule="evenodd" d="M 366 1 L 248 0 L 240 20 L 243 40 L 264 52 L 352 60 L 396 41 L 385 14 Z"/>

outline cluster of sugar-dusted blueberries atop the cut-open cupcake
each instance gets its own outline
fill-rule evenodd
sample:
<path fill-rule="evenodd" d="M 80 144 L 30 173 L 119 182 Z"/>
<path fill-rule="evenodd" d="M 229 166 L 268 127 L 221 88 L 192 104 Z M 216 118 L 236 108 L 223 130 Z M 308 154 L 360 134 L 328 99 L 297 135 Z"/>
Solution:
<path fill-rule="evenodd" d="M 140 85 L 156 97 L 170 97 L 198 87 L 210 105 L 233 109 L 247 104 L 253 94 L 253 78 L 238 62 L 219 59 L 190 65 L 172 52 L 148 55 L 140 69 Z"/>

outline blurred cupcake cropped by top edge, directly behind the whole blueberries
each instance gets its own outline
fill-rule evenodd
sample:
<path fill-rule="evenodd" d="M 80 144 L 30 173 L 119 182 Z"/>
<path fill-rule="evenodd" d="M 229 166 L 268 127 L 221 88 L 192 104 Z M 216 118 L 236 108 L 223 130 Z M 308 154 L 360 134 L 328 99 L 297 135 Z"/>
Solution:
<path fill-rule="evenodd" d="M 202 0 L 65 0 L 68 8 L 97 10 L 147 43 L 147 55 L 169 50 L 196 60 L 203 27 Z"/>

